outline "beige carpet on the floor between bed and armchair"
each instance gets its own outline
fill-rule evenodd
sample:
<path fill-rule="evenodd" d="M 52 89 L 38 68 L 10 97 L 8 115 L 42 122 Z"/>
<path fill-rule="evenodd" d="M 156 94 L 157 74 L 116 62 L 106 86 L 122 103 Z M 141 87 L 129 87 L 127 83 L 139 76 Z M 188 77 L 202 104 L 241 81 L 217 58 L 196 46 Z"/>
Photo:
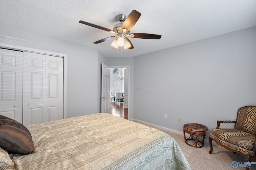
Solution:
<path fill-rule="evenodd" d="M 237 168 L 233 168 L 231 165 L 233 161 L 245 162 L 242 154 L 234 154 L 232 151 L 219 147 L 216 144 L 213 145 L 212 154 L 209 154 L 210 146 L 206 142 L 202 148 L 190 147 L 184 142 L 183 135 L 162 129 L 159 130 L 175 139 L 187 158 L 192 170 L 245 170 L 244 167 L 238 166 Z M 256 158 L 252 158 L 251 162 L 256 162 Z M 256 164 L 252 164 L 250 170 L 256 170 Z"/>

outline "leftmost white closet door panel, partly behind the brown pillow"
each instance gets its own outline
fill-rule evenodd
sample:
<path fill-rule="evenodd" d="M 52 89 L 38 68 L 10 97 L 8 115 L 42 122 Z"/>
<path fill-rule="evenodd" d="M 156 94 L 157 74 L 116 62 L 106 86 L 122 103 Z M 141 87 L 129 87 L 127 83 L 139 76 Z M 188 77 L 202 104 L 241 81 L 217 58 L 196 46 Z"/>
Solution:
<path fill-rule="evenodd" d="M 0 115 L 22 123 L 22 57 L 20 51 L 0 49 Z"/>

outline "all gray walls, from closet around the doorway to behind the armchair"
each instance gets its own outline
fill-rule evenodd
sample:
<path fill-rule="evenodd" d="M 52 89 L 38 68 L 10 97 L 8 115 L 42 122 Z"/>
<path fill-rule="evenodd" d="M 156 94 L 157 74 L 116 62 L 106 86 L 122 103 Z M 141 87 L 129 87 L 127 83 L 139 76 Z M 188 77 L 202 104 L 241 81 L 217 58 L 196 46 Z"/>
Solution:
<path fill-rule="evenodd" d="M 256 27 L 137 57 L 106 58 L 97 49 L 1 26 L 0 44 L 67 55 L 67 117 L 100 112 L 101 63 L 130 66 L 130 119 L 180 132 L 191 122 L 210 129 L 256 105 Z"/>

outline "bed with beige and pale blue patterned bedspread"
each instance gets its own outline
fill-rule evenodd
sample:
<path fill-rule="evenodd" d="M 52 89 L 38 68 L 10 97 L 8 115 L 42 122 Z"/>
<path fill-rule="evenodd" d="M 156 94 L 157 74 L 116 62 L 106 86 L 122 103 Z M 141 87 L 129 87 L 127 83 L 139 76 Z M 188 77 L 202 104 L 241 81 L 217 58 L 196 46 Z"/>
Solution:
<path fill-rule="evenodd" d="M 31 154 L 12 154 L 15 170 L 190 170 L 176 141 L 108 113 L 27 125 Z"/>

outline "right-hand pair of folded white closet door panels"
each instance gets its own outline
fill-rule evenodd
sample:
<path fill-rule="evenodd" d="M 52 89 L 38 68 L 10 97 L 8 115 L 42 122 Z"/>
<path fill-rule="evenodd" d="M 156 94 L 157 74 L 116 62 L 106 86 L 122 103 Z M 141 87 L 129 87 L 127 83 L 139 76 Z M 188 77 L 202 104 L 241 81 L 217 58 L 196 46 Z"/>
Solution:
<path fill-rule="evenodd" d="M 23 124 L 63 119 L 63 58 L 23 54 Z"/>

